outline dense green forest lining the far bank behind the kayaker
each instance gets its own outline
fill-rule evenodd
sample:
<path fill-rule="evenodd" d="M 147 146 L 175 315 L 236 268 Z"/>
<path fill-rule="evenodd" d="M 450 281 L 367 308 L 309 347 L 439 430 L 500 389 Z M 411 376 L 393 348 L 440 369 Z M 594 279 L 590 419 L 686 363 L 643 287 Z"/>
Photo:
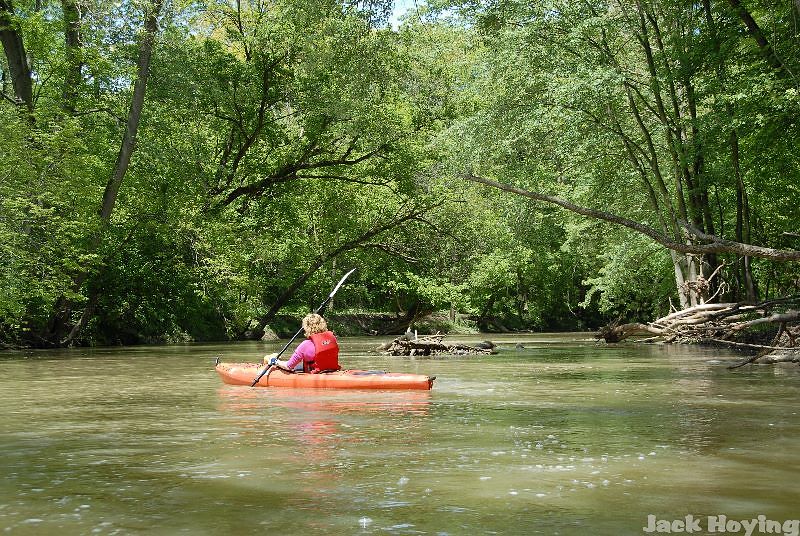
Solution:
<path fill-rule="evenodd" d="M 800 0 L 393 8 L 0 0 L 0 344 L 798 293 Z"/>

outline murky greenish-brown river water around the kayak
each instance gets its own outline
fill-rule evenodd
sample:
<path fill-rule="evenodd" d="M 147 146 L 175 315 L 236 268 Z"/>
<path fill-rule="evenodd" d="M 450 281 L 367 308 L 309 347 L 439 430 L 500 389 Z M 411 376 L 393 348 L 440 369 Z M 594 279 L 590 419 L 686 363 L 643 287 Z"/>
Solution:
<path fill-rule="evenodd" d="M 435 375 L 430 392 L 251 389 L 213 371 L 277 344 L 0 354 L 0 528 L 620 535 L 648 516 L 721 533 L 711 518 L 761 515 L 791 533 L 800 518 L 797 366 L 730 371 L 732 352 L 587 334 L 414 360 L 378 355 L 382 340 L 345 338 L 340 361 Z"/>

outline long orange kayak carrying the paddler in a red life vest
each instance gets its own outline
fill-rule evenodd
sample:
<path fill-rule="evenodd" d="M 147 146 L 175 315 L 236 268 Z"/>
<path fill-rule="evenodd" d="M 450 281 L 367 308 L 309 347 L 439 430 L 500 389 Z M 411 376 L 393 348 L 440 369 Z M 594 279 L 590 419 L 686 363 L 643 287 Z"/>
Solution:
<path fill-rule="evenodd" d="M 264 370 L 258 363 L 218 363 L 217 374 L 229 385 L 250 385 Z M 323 374 L 286 372 L 273 368 L 255 387 L 313 387 L 318 389 L 430 389 L 436 376 L 383 372 L 380 370 L 340 370 Z"/>

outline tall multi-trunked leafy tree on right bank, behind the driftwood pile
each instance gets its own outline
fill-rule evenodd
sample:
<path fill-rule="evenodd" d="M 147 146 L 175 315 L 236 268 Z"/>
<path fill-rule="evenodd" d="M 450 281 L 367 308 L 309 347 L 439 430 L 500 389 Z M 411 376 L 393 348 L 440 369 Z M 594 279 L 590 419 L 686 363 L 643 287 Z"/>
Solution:
<path fill-rule="evenodd" d="M 734 4 L 715 11 L 656 1 L 461 4 L 484 35 L 488 74 L 479 83 L 490 96 L 470 120 L 471 155 L 479 157 L 461 156 L 475 171 L 467 176 L 625 225 L 666 246 L 683 306 L 713 294 L 704 277 L 721 261 L 741 267 L 740 277 L 728 276 L 729 294 L 754 296 L 749 257 L 800 257 L 780 250 L 785 242 L 774 234 L 752 232 L 756 221 L 781 218 L 774 202 L 754 201 L 761 182 L 769 177 L 785 192 L 798 175 L 796 151 L 767 141 L 773 124 L 796 132 L 791 72 L 798 57 L 788 48 L 772 54 L 758 37 L 757 49 L 747 50 L 750 37 L 735 31 L 747 17 Z M 782 44 L 791 42 L 789 14 L 776 18 Z M 724 104 L 753 94 L 761 98 Z M 734 125 L 751 130 L 741 134 Z M 736 146 L 733 133 L 744 138 Z M 780 162 L 784 173 L 757 165 L 758 153 Z M 738 176 L 727 172 L 736 166 Z M 783 208 L 781 214 L 796 212 Z M 584 253 L 610 259 L 609 247 Z"/>

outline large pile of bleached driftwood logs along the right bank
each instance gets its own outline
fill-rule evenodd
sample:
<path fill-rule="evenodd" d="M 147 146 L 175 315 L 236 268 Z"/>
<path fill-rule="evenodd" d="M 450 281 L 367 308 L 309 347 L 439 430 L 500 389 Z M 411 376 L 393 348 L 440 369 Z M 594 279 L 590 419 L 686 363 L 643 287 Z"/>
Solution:
<path fill-rule="evenodd" d="M 720 344 L 757 353 L 731 368 L 748 363 L 800 362 L 800 298 L 758 304 L 704 303 L 647 324 L 610 324 L 595 335 L 619 342 L 632 335 L 652 335 L 645 341 Z M 777 333 L 772 333 L 777 328 Z M 768 344 L 761 344 L 765 334 Z M 751 341 L 757 341 L 754 343 Z"/>

